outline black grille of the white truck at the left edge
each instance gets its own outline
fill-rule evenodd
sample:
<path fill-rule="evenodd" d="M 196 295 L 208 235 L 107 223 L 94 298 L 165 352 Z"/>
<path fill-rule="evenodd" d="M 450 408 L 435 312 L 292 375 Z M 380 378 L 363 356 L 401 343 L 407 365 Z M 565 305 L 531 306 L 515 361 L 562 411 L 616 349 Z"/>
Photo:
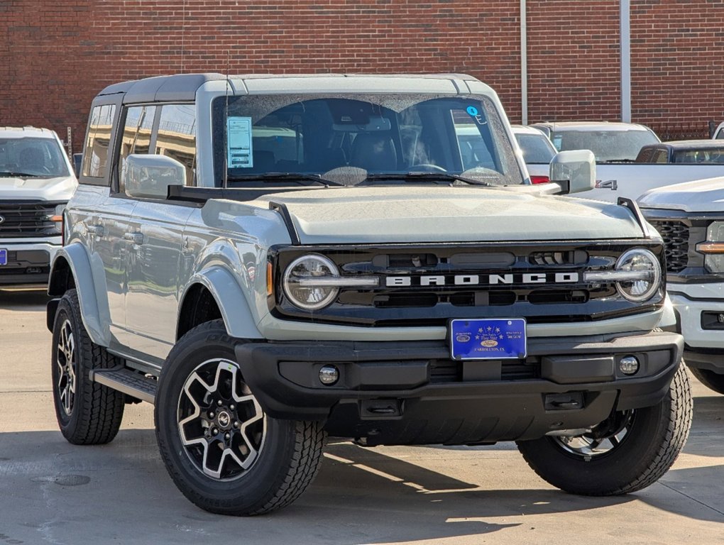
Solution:
<path fill-rule="evenodd" d="M 62 203 L 48 200 L 0 200 L 0 237 L 54 237 L 59 233 L 50 216 Z"/>

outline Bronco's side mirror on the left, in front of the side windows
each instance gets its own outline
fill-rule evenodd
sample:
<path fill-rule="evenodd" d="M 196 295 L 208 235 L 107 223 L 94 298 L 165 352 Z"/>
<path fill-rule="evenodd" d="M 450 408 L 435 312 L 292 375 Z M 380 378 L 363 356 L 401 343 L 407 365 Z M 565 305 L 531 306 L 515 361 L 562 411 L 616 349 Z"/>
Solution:
<path fill-rule="evenodd" d="M 166 198 L 169 185 L 186 185 L 186 168 L 167 156 L 135 153 L 126 157 L 121 182 L 131 197 Z"/>

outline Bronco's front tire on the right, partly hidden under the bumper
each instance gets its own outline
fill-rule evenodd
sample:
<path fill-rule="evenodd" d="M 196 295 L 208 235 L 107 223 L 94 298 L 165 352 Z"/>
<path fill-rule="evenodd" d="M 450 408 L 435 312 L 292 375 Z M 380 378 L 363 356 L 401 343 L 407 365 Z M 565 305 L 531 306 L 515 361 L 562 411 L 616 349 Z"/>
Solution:
<path fill-rule="evenodd" d="M 679 366 L 666 396 L 633 411 L 631 426 L 618 446 L 585 457 L 565 450 L 550 436 L 518 442 L 518 449 L 544 481 L 572 494 L 629 494 L 656 482 L 686 443 L 693 404 L 686 368 Z"/>

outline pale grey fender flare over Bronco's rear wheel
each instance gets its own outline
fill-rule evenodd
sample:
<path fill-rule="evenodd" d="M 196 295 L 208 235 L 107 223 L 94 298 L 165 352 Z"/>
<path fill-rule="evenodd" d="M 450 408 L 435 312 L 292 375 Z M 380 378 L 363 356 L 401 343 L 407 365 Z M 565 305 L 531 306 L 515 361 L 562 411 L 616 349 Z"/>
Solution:
<path fill-rule="evenodd" d="M 96 345 L 107 347 L 111 339 L 109 329 L 110 313 L 108 309 L 108 300 L 104 300 L 105 305 L 99 305 L 98 289 L 93 279 L 93 267 L 90 264 L 90 258 L 83 245 L 72 243 L 64 246 L 55 255 L 51 266 L 48 285 L 49 295 L 62 296 L 60 292 L 52 290 L 54 276 L 58 274 L 58 263 L 63 259 L 70 267 L 75 282 L 75 290 L 80 301 L 80 316 L 83 319 L 83 326 L 88 331 L 90 340 Z M 103 267 L 103 263 L 98 263 Z M 101 308 L 105 310 L 101 312 Z M 102 319 L 105 316 L 105 319 Z"/>

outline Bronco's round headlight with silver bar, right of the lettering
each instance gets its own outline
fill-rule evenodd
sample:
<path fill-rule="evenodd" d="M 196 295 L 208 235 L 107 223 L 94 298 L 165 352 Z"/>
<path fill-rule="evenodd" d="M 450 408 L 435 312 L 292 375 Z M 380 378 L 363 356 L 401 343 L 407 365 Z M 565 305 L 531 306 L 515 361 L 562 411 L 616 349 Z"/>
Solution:
<path fill-rule="evenodd" d="M 661 265 L 645 248 L 633 248 L 618 258 L 613 270 L 584 272 L 586 282 L 615 282 L 616 290 L 634 303 L 649 300 L 661 287 Z"/>

